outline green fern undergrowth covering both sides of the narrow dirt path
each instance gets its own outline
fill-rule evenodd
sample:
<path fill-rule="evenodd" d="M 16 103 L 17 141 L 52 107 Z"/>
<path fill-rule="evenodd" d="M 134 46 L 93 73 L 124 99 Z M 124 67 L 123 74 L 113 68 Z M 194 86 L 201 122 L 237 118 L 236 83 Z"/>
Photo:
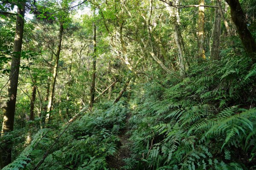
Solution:
<path fill-rule="evenodd" d="M 127 170 L 256 169 L 256 66 L 233 56 L 190 65 L 184 78 L 134 84 L 131 157 Z M 95 110 L 63 128 L 42 130 L 9 169 L 108 170 L 119 147 L 118 133 L 129 110 L 124 102 L 96 104 Z"/>

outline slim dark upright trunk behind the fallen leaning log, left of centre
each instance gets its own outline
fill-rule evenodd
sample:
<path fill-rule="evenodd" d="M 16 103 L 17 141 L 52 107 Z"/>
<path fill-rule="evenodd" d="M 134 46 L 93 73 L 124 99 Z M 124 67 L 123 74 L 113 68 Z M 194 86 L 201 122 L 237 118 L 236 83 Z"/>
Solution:
<path fill-rule="evenodd" d="M 96 25 L 93 23 L 93 76 L 90 88 L 90 109 L 93 109 L 93 102 L 95 97 L 95 78 L 96 78 Z"/>

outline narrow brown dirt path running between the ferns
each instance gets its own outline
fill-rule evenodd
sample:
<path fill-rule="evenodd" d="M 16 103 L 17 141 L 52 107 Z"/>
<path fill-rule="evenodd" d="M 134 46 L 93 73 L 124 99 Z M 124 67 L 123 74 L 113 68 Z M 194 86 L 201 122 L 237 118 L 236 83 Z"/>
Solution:
<path fill-rule="evenodd" d="M 114 154 L 108 158 L 108 165 L 111 168 L 121 170 L 125 166 L 124 158 L 130 158 L 131 156 L 131 141 L 129 141 L 130 135 L 127 133 L 129 130 L 129 119 L 131 118 L 131 113 L 128 113 L 125 119 L 125 128 L 122 129 L 118 135 L 120 139 L 121 146 Z"/>

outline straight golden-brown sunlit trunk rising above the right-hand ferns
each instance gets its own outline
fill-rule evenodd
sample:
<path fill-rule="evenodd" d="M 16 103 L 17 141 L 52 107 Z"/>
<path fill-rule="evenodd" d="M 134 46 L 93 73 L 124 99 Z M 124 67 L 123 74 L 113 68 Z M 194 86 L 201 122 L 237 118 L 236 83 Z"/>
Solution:
<path fill-rule="evenodd" d="M 198 58 L 206 59 L 204 53 L 204 0 L 199 0 L 198 11 Z"/>

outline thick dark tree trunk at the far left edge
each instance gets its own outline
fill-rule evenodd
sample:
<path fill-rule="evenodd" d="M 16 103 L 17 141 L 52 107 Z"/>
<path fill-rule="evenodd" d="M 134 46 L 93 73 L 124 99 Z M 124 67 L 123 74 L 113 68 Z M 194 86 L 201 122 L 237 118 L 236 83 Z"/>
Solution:
<path fill-rule="evenodd" d="M 11 71 L 9 75 L 9 83 L 8 83 L 8 101 L 6 102 L 6 106 L 3 110 L 3 126 L 1 137 L 3 137 L 6 133 L 13 130 L 14 125 L 14 116 L 15 116 L 15 105 L 16 105 L 16 97 L 17 97 L 17 86 L 18 86 L 18 78 L 19 78 L 19 69 L 20 69 L 20 55 L 21 55 L 21 47 L 22 47 L 22 38 L 23 38 L 23 28 L 24 28 L 24 14 L 25 14 L 25 3 L 23 3 L 22 8 L 17 9 L 17 20 L 16 20 L 16 30 L 15 30 L 15 39 L 13 44 L 13 52 L 12 63 L 11 63 Z M 12 142 L 5 142 L 5 152 L 3 154 L 4 165 L 11 163 L 12 161 Z"/>

